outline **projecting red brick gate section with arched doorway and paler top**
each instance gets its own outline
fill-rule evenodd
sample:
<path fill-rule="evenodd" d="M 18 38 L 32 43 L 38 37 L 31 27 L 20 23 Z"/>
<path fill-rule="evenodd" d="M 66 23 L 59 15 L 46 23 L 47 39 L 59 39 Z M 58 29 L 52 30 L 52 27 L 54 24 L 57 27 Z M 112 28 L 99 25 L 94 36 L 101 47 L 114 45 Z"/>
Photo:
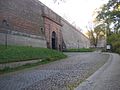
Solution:
<path fill-rule="evenodd" d="M 61 51 L 62 50 L 61 17 L 46 6 L 44 6 L 43 17 L 47 47 Z M 53 33 L 55 36 L 53 36 Z"/>

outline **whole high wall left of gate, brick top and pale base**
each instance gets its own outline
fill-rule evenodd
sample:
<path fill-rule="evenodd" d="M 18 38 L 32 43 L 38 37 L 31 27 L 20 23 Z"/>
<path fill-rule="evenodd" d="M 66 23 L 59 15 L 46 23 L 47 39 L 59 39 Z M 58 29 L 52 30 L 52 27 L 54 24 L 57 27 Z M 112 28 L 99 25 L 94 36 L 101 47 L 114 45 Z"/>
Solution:
<path fill-rule="evenodd" d="M 8 44 L 46 47 L 42 8 L 38 0 L 0 0 L 0 38 L 9 31 Z"/>

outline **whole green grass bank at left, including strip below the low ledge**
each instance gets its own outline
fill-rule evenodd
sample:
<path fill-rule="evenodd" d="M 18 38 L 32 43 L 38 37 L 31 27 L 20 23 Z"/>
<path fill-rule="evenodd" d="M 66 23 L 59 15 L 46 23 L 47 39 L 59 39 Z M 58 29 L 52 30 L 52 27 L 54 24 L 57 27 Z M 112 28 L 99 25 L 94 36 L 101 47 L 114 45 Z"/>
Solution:
<path fill-rule="evenodd" d="M 67 57 L 62 52 L 51 50 L 47 48 L 39 47 L 27 47 L 27 46 L 7 46 L 0 45 L 0 63 L 10 63 L 19 61 L 29 61 L 42 59 L 36 63 L 26 63 L 25 65 L 18 66 L 15 68 L 5 67 L 0 69 L 0 74 L 22 70 L 25 68 L 31 68 L 41 64 L 47 64 L 58 59 Z"/>

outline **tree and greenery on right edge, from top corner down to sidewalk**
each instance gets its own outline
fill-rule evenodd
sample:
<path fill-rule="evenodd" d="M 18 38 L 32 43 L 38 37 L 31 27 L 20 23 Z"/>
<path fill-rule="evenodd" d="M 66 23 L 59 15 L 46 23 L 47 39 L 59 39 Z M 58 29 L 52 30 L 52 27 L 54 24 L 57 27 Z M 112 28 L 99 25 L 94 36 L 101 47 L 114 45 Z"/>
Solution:
<path fill-rule="evenodd" d="M 120 54 L 120 0 L 109 0 L 97 13 L 96 19 L 107 25 L 107 43 Z"/>

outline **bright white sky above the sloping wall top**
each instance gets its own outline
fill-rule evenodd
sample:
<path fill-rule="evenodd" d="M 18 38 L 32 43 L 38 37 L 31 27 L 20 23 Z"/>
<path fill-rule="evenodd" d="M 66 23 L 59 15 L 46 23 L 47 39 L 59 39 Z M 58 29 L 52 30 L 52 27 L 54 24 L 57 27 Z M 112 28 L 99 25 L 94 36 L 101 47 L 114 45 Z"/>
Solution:
<path fill-rule="evenodd" d="M 108 0 L 65 0 L 54 3 L 54 0 L 39 0 L 68 22 L 85 32 L 86 26 L 93 20 L 96 8 L 107 3 Z"/>

